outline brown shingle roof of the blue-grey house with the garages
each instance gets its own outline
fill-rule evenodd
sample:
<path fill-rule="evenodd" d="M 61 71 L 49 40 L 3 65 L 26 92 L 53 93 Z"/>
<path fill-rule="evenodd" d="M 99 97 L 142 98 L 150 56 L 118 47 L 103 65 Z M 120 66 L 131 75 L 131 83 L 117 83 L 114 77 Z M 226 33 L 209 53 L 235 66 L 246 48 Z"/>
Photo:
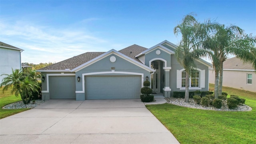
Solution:
<path fill-rule="evenodd" d="M 142 46 L 138 46 L 136 44 L 132 46 L 128 46 L 127 48 L 124 48 L 122 50 L 119 50 L 120 53 L 140 62 L 135 56 L 139 54 L 140 52 L 143 52 L 147 48 L 144 48 Z M 132 53 L 131 53 L 132 52 Z M 74 69 L 93 58 L 96 58 L 97 56 L 100 56 L 104 54 L 105 52 L 86 52 L 84 54 L 80 54 L 78 56 L 74 56 L 72 58 L 69 58 L 67 60 L 63 60 L 61 62 L 58 62 L 56 64 L 52 64 L 50 66 L 46 66 L 44 68 L 41 68 L 40 70 L 65 70 L 65 69 Z"/>

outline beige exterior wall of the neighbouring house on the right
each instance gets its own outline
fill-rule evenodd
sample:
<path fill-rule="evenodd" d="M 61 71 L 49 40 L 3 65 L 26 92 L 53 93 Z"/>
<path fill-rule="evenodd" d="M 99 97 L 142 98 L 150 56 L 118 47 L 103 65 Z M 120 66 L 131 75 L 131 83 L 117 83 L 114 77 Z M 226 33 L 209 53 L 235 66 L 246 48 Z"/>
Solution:
<path fill-rule="evenodd" d="M 252 84 L 247 84 L 247 74 L 252 74 Z M 209 83 L 214 84 L 214 79 L 214 70 L 209 70 Z M 255 71 L 224 70 L 222 85 L 256 92 L 256 73 Z"/>

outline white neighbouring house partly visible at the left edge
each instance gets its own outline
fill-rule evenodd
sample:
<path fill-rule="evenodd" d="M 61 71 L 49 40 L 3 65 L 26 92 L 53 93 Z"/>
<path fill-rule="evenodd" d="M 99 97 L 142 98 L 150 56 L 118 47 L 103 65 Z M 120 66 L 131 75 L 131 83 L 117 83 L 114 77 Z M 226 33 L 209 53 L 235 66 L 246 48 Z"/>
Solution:
<path fill-rule="evenodd" d="M 0 42 L 0 75 L 12 74 L 12 69 L 21 69 L 21 52 L 23 50 Z M 0 83 L 4 76 L 0 76 Z"/>

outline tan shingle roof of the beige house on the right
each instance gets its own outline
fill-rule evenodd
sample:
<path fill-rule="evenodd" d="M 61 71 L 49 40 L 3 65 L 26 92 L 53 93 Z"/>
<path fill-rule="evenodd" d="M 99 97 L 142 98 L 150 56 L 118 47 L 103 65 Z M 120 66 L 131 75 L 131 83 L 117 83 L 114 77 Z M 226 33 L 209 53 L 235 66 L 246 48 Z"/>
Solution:
<path fill-rule="evenodd" d="M 254 70 L 251 64 L 243 63 L 239 58 L 229 58 L 223 62 L 223 69 Z"/>

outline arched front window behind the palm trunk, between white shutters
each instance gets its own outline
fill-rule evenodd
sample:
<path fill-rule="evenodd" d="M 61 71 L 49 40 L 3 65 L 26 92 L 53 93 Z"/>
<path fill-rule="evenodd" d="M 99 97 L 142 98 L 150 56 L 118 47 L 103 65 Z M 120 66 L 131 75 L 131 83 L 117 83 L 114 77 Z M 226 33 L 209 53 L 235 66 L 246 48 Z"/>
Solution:
<path fill-rule="evenodd" d="M 186 79 L 186 71 L 182 71 L 181 74 L 181 87 L 185 87 L 185 79 Z M 191 72 L 191 76 L 189 78 L 189 87 L 192 88 L 198 88 L 199 87 L 199 71 L 198 70 L 193 70 Z"/>

